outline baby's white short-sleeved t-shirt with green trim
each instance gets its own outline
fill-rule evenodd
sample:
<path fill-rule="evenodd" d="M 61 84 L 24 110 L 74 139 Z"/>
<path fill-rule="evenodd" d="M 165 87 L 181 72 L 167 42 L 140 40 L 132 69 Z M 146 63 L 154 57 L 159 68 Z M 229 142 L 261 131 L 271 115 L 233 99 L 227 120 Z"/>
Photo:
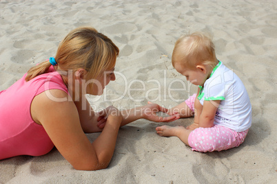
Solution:
<path fill-rule="evenodd" d="M 214 124 L 236 132 L 247 130 L 252 124 L 252 106 L 243 82 L 232 70 L 218 62 L 211 76 L 201 87 L 198 100 L 221 100 L 214 117 Z"/>

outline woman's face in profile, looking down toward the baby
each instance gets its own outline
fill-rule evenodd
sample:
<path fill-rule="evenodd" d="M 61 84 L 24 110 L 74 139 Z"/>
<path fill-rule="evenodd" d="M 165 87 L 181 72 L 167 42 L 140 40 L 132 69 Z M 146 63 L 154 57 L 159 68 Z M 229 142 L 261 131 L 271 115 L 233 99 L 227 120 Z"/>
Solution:
<path fill-rule="evenodd" d="M 102 71 L 96 79 L 90 80 L 93 82 L 93 89 L 91 95 L 102 95 L 107 84 L 111 80 L 116 80 L 114 75 L 114 68 L 111 70 Z"/>

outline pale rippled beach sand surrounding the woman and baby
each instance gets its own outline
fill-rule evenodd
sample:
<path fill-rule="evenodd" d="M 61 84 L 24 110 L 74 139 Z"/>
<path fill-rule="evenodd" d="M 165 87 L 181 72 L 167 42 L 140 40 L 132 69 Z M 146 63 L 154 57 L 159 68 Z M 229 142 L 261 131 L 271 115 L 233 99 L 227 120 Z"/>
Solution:
<path fill-rule="evenodd" d="M 193 117 L 139 119 L 119 130 L 105 170 L 74 170 L 54 148 L 41 157 L 0 161 L 0 183 L 276 183 L 277 1 L 7 0 L 0 9 L 0 91 L 54 57 L 70 30 L 90 26 L 120 49 L 116 81 L 101 97 L 88 95 L 95 111 L 147 101 L 170 108 L 196 93 L 172 67 L 174 43 L 202 31 L 213 35 L 218 60 L 245 84 L 253 113 L 245 142 L 231 150 L 193 152 L 177 137 L 156 134 L 156 126 L 188 126 Z M 87 136 L 94 141 L 98 135 Z"/>

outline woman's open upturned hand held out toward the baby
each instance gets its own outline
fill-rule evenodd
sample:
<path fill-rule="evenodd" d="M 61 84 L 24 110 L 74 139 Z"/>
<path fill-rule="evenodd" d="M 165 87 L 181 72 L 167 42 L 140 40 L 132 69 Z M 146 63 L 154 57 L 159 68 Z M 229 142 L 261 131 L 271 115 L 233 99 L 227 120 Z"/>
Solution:
<path fill-rule="evenodd" d="M 152 104 L 152 102 L 148 102 L 146 106 L 141 107 L 141 111 L 143 113 L 143 118 L 152 122 L 172 122 L 180 118 L 180 115 L 178 113 L 171 113 L 170 116 L 167 117 L 156 115 L 156 113 L 160 111 L 163 113 L 167 113 L 168 109 L 159 106 L 158 104 Z"/>

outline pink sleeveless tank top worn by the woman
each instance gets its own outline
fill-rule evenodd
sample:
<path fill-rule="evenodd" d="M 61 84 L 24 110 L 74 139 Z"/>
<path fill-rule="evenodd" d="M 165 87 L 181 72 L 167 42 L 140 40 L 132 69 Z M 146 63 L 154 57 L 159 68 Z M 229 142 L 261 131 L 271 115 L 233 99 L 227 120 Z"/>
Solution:
<path fill-rule="evenodd" d="M 68 93 L 68 89 L 52 66 L 48 73 L 28 82 L 26 75 L 0 92 L 0 159 L 23 154 L 39 156 L 54 147 L 43 126 L 32 119 L 30 105 L 43 91 L 60 89 Z"/>

